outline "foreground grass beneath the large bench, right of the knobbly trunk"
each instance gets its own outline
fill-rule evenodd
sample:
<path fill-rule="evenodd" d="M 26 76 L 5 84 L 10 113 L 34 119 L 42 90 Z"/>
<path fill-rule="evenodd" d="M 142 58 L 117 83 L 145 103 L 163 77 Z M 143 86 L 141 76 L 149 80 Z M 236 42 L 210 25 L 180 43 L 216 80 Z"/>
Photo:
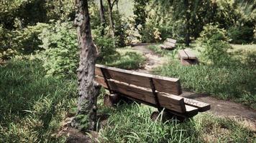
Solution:
<path fill-rule="evenodd" d="M 153 122 L 154 109 L 138 104 L 107 109 L 110 117 L 99 131 L 101 142 L 254 142 L 252 132 L 230 119 L 199 114 L 187 122 Z M 160 117 L 159 117 L 160 118 Z"/>

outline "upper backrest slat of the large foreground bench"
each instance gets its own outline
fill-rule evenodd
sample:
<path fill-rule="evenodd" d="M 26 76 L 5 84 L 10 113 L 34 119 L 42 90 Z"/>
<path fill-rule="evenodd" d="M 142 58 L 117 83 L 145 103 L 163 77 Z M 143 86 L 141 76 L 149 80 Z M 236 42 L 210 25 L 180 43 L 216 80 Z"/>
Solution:
<path fill-rule="evenodd" d="M 150 79 L 152 78 L 157 92 L 166 92 L 166 93 L 175 94 L 175 95 L 179 95 L 182 93 L 181 87 L 180 87 L 180 81 L 179 79 L 176 79 L 176 78 L 161 77 L 157 75 L 145 74 L 145 73 L 140 73 L 136 71 L 129 71 L 129 70 L 117 69 L 109 66 L 102 66 L 99 64 L 96 64 L 96 74 L 99 73 L 99 71 L 101 71 L 100 68 L 104 69 L 104 74 L 108 79 L 114 79 L 119 82 L 133 84 L 137 87 L 145 87 L 147 89 L 151 89 Z"/>

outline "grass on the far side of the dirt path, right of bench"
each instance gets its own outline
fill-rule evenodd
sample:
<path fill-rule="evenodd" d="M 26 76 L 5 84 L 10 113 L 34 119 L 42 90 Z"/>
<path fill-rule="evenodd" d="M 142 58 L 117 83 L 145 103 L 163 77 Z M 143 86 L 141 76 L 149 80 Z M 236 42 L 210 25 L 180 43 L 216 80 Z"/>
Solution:
<path fill-rule="evenodd" d="M 155 74 L 178 77 L 183 87 L 188 90 L 230 99 L 256 109 L 256 64 L 253 54 L 247 52 L 237 54 L 238 48 L 234 48 L 229 51 L 232 59 L 227 59 L 227 64 L 182 66 L 174 56 L 177 51 L 160 51 L 157 46 L 151 46 L 150 49 L 170 57 L 170 62 L 155 69 Z M 256 48 L 252 46 L 251 50 L 256 51 Z"/>

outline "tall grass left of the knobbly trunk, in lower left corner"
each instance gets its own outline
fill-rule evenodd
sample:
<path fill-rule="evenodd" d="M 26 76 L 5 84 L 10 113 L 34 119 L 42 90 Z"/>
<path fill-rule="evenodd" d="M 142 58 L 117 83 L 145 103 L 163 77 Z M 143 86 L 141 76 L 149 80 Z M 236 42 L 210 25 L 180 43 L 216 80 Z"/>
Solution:
<path fill-rule="evenodd" d="M 12 59 L 0 66 L 0 142 L 65 142 L 55 133 L 75 103 L 76 80 L 45 77 L 41 65 Z"/>

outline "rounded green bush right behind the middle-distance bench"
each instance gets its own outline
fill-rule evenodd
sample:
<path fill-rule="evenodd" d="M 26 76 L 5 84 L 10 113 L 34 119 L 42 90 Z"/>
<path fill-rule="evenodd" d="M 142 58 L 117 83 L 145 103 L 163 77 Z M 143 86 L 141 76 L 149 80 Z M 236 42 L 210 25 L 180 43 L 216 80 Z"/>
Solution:
<path fill-rule="evenodd" d="M 228 61 L 229 56 L 227 49 L 227 32 L 224 29 L 219 29 L 218 26 L 207 24 L 204 26 L 204 31 L 201 32 L 199 43 L 202 46 L 201 57 L 206 62 L 213 64 L 223 64 Z"/>

